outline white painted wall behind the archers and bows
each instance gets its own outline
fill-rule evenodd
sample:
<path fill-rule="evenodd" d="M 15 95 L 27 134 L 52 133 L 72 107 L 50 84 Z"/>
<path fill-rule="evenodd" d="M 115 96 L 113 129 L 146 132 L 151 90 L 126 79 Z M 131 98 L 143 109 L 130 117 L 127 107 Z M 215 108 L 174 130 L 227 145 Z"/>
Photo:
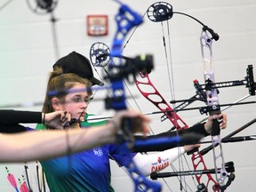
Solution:
<path fill-rule="evenodd" d="M 0 5 L 5 2 L 5 0 L 1 0 Z M 140 14 L 144 14 L 148 7 L 156 2 L 152 0 L 126 0 L 124 3 L 130 5 Z M 172 4 L 174 12 L 191 14 L 220 35 L 220 40 L 212 43 L 216 82 L 243 80 L 246 75 L 245 69 L 250 64 L 253 65 L 255 71 L 255 1 L 173 0 L 169 3 Z M 116 30 L 114 16 L 117 8 L 116 2 L 106 0 L 60 1 L 54 11 L 54 16 L 57 19 L 55 27 L 59 44 L 59 57 L 72 51 L 80 52 L 88 57 L 89 49 L 93 43 L 103 42 L 110 45 Z M 86 35 L 85 23 L 88 14 L 108 15 L 108 36 L 92 37 Z M 12 105 L 21 103 L 27 106 L 17 109 L 40 110 L 42 108 L 41 105 L 28 107 L 28 103 L 44 100 L 47 73 L 57 60 L 52 43 L 50 18 L 49 14 L 38 15 L 29 10 L 26 1 L 12 1 L 0 10 L 0 106 L 10 105 L 9 108 L 14 108 Z M 166 22 L 164 23 L 164 33 L 167 38 L 165 27 Z M 202 27 L 188 17 L 174 14 L 172 20 L 169 21 L 169 28 L 173 68 L 173 74 L 170 78 L 174 82 L 175 99 L 188 99 L 195 94 L 193 80 L 198 79 L 201 84 L 204 82 L 199 44 Z M 167 48 L 169 48 L 168 44 Z M 155 69 L 150 78 L 159 92 L 163 94 L 165 100 L 173 100 L 169 88 L 170 78 L 166 69 L 161 25 L 151 22 L 147 17 L 145 17 L 143 25 L 136 29 L 129 44 L 124 49 L 126 56 L 134 57 L 140 53 L 152 53 L 154 55 Z M 102 71 L 100 69 L 98 71 L 101 75 Z M 98 76 L 95 72 L 94 74 Z M 157 108 L 141 96 L 134 84 L 128 86 L 133 95 L 136 96 L 136 101 L 142 112 L 157 111 Z M 220 103 L 234 102 L 245 95 L 248 95 L 248 90 L 244 86 L 220 89 Z M 106 92 L 97 92 L 95 98 L 104 98 L 105 96 Z M 248 100 L 255 100 L 255 97 L 250 97 L 246 101 Z M 129 100 L 129 102 L 132 108 L 138 109 L 133 100 Z M 191 107 L 202 105 L 204 103 L 197 102 Z M 90 111 L 101 116 L 113 114 L 113 111 L 104 109 L 103 101 L 94 101 Z M 228 128 L 221 132 L 222 136 L 228 135 L 228 133 L 246 124 L 256 115 L 253 105 L 232 107 L 225 113 L 228 114 Z M 150 125 L 155 133 L 167 131 L 172 127 L 172 124 L 167 120 L 161 123 L 160 116 L 150 116 L 153 119 Z M 195 124 L 205 117 L 201 116 L 198 110 L 180 112 L 180 116 L 189 125 Z M 237 135 L 253 135 L 255 134 L 253 127 L 255 124 Z M 226 162 L 233 161 L 236 166 L 236 180 L 227 191 L 255 191 L 253 183 L 253 173 L 256 171 L 255 147 L 254 141 L 223 144 Z M 212 153 L 209 153 L 205 158 L 207 166 L 213 168 Z M 189 156 L 187 159 L 190 162 Z M 16 178 L 20 177 L 23 172 L 23 164 L 1 165 L 0 191 L 12 191 L 12 187 L 6 179 L 4 168 L 6 165 Z M 33 175 L 31 180 L 35 182 L 34 190 L 36 191 L 36 163 L 28 165 L 31 175 Z M 112 164 L 112 167 L 113 185 L 116 191 L 132 191 L 132 182 L 126 173 L 116 164 Z M 164 184 L 164 191 L 180 190 L 177 178 L 166 181 L 171 189 Z M 196 191 L 195 185 L 191 184 L 190 177 L 187 181 L 192 191 Z"/>

